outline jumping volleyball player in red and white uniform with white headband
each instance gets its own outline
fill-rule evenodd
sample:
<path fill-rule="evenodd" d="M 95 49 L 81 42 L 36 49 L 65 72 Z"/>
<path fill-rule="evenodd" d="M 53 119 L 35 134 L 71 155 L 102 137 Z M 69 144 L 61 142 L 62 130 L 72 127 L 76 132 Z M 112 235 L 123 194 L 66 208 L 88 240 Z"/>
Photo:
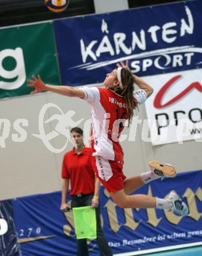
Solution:
<path fill-rule="evenodd" d="M 28 79 L 28 87 L 34 87 L 31 94 L 51 91 L 69 97 L 78 97 L 92 106 L 92 167 L 95 175 L 110 193 L 111 198 L 122 208 L 157 208 L 167 209 L 176 215 L 188 215 L 188 207 L 174 191 L 167 199 L 154 198 L 144 194 L 131 193 L 142 185 L 155 179 L 175 177 L 174 167 L 151 161 L 150 171 L 126 179 L 123 174 L 123 150 L 119 136 L 123 131 L 125 120 L 131 122 L 133 110 L 153 93 L 148 83 L 133 75 L 121 62 L 104 79 L 105 88 L 74 88 L 43 83 L 40 75 Z M 134 83 L 140 90 L 134 91 Z M 106 123 L 105 129 L 102 124 Z"/>

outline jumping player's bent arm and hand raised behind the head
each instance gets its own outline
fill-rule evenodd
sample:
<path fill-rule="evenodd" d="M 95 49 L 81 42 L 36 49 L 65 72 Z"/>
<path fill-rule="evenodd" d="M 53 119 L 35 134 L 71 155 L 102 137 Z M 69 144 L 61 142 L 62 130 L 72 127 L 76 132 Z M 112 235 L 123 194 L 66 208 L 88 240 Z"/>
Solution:
<path fill-rule="evenodd" d="M 124 64 L 123 61 L 119 63 L 117 63 L 118 67 L 121 68 L 128 68 L 129 69 L 129 60 L 126 61 L 126 63 Z M 138 85 L 138 87 L 142 90 L 144 90 L 146 92 L 147 98 L 153 93 L 153 88 L 146 83 L 146 81 L 142 80 L 140 77 L 138 77 L 137 75 L 132 74 L 132 77 L 134 79 L 134 83 L 136 83 L 136 85 Z"/>

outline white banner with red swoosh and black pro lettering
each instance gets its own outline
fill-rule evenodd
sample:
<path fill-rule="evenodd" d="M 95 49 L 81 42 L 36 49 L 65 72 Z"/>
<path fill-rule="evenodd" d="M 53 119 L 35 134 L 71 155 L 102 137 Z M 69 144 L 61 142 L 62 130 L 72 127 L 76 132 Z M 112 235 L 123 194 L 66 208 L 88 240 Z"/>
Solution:
<path fill-rule="evenodd" d="M 153 145 L 202 139 L 202 69 L 145 77 L 153 87 L 146 112 Z"/>

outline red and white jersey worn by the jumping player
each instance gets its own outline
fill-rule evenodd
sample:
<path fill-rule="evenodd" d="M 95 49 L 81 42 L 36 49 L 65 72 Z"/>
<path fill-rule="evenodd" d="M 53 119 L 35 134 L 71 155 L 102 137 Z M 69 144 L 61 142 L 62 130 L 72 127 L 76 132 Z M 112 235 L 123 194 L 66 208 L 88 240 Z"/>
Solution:
<path fill-rule="evenodd" d="M 92 106 L 92 156 L 104 159 L 123 161 L 123 150 L 119 136 L 124 123 L 129 118 L 125 98 L 107 88 L 82 87 L 85 98 Z M 134 100 L 139 104 L 146 101 L 144 90 L 133 93 Z"/>

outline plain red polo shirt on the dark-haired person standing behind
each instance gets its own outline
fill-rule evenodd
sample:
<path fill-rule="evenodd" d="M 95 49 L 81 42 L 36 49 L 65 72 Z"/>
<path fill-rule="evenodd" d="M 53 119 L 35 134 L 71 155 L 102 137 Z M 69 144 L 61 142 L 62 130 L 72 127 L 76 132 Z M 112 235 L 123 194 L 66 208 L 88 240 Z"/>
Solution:
<path fill-rule="evenodd" d="M 62 163 L 62 179 L 70 179 L 70 196 L 94 192 L 94 172 L 91 166 L 92 148 L 84 148 L 80 154 L 74 148 L 66 153 Z"/>

